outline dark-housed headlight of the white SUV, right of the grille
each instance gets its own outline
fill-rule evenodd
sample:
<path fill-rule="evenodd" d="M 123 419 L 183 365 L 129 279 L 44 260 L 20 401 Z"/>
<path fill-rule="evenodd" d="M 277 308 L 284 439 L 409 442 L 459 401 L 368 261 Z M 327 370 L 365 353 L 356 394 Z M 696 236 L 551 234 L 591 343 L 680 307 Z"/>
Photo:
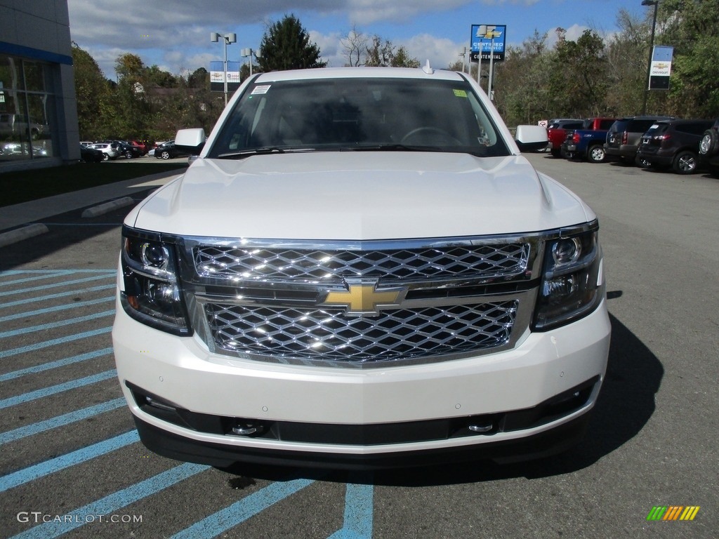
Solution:
<path fill-rule="evenodd" d="M 544 331 L 581 318 L 591 313 L 604 295 L 596 226 L 546 241 L 534 329 Z"/>

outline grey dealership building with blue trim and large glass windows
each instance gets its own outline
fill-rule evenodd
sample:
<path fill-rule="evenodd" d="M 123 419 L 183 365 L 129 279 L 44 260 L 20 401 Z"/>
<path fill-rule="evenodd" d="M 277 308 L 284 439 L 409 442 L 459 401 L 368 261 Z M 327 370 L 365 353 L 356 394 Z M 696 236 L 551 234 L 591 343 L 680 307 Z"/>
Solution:
<path fill-rule="evenodd" d="M 0 0 L 0 172 L 80 157 L 67 0 Z"/>

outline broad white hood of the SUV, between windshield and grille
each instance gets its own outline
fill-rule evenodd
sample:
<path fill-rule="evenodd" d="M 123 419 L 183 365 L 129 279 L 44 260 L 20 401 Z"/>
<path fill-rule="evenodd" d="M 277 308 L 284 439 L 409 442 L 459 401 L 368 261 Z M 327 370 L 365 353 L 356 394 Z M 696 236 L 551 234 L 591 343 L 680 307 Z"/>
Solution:
<path fill-rule="evenodd" d="M 365 240 L 531 232 L 592 218 L 521 156 L 310 152 L 198 159 L 125 223 L 183 236 Z"/>

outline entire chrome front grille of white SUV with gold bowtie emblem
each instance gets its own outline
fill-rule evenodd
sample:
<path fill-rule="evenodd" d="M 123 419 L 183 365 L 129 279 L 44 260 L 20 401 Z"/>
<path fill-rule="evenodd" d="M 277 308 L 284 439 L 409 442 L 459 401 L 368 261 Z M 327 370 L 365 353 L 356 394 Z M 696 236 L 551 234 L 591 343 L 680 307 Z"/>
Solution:
<path fill-rule="evenodd" d="M 180 267 L 209 351 L 369 368 L 515 346 L 530 323 L 543 241 L 187 237 Z"/>

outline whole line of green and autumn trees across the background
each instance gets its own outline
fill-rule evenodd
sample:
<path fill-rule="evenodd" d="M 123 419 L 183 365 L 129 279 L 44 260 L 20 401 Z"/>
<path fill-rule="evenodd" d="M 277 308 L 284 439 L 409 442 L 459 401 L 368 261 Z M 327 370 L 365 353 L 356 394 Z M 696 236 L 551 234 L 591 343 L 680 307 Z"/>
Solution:
<path fill-rule="evenodd" d="M 548 34 L 535 32 L 521 46 L 507 47 L 495 63 L 494 102 L 510 125 L 540 119 L 588 116 L 633 116 L 644 108 L 652 29 L 652 7 L 642 17 L 626 9 L 617 15 L 619 32 L 601 37 L 587 29 L 576 41 L 557 29 L 551 47 Z M 719 0 L 661 0 L 657 6 L 655 45 L 674 47 L 667 91 L 650 91 L 647 114 L 684 118 L 719 116 Z M 356 27 L 342 39 L 345 65 L 418 67 L 405 47 Z M 252 59 L 251 59 L 252 60 Z M 255 63 L 256 62 L 256 63 Z M 146 66 L 132 53 L 115 62 L 116 80 L 107 79 L 85 50 L 73 44 L 75 92 L 82 139 L 164 140 L 183 127 L 207 132 L 224 107 L 224 96 L 210 91 L 210 74 L 198 68 L 174 75 Z M 480 79 L 486 88 L 488 63 Z M 321 50 L 294 15 L 268 24 L 253 72 L 323 68 Z M 462 62 L 446 66 L 462 70 Z M 477 64 L 470 68 L 477 77 Z M 249 76 L 242 65 L 240 78 Z"/>

